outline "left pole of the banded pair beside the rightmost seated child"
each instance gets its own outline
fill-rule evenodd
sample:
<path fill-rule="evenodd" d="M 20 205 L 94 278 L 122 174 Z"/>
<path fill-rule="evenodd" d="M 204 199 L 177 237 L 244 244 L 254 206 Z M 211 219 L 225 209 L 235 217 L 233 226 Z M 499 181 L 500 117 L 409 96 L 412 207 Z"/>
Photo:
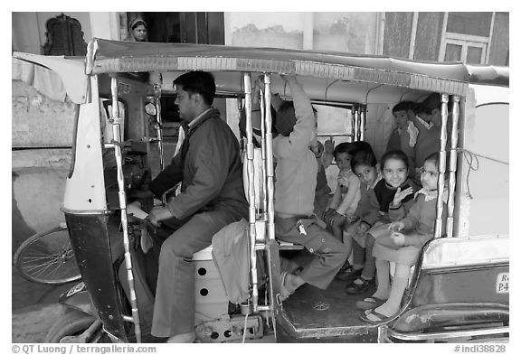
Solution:
<path fill-rule="evenodd" d="M 434 227 L 434 238 L 441 237 L 443 225 L 443 189 L 445 188 L 445 166 L 447 162 L 447 118 L 449 117 L 447 103 L 449 95 L 441 94 L 441 131 L 440 131 L 440 166 L 438 169 L 438 200 L 436 201 L 436 224 Z"/>

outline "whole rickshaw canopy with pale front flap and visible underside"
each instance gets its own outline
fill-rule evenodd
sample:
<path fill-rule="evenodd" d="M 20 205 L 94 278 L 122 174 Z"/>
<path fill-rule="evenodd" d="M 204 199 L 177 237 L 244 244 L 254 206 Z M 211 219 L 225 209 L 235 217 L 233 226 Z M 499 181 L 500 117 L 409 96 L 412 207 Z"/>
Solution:
<path fill-rule="evenodd" d="M 69 96 L 77 103 L 85 102 L 88 97 L 87 76 L 90 74 L 143 71 L 152 72 L 151 84 L 160 84 L 165 91 L 172 90 L 172 80 L 187 70 L 211 71 L 217 92 L 232 95 L 244 91 L 242 75 L 245 72 L 257 76 L 294 74 L 312 99 L 354 103 L 392 102 L 405 99 L 410 92 L 414 99 L 419 96 L 418 91 L 465 96 L 469 84 L 509 85 L 507 67 L 407 61 L 333 51 L 93 39 L 86 58 L 20 52 L 14 52 L 13 56 L 57 71 Z M 71 75 L 71 71 L 75 75 Z M 75 78 L 78 76 L 82 78 Z M 286 92 L 279 78 L 272 79 L 272 88 Z"/>

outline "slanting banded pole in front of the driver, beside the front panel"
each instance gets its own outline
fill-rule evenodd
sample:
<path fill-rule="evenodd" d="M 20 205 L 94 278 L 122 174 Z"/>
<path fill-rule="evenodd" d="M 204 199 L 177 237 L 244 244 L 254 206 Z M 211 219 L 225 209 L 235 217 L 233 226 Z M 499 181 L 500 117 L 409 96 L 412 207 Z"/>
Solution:
<path fill-rule="evenodd" d="M 134 288 L 134 274 L 132 272 L 132 259 L 130 256 L 130 242 L 128 239 L 128 220 L 127 220 L 127 196 L 125 193 L 125 178 L 123 176 L 123 157 L 121 154 L 121 124 L 123 120 L 119 117 L 118 106 L 118 79 L 112 78 L 110 82 L 112 94 L 112 134 L 114 135 L 114 154 L 116 155 L 116 165 L 118 167 L 118 197 L 119 208 L 121 210 L 121 226 L 123 228 L 123 247 L 125 249 L 125 266 L 127 266 L 127 282 L 130 292 L 130 306 L 132 308 L 132 322 L 136 333 L 136 341 L 141 342 L 141 327 L 139 326 L 139 312 L 137 310 L 137 296 Z"/>

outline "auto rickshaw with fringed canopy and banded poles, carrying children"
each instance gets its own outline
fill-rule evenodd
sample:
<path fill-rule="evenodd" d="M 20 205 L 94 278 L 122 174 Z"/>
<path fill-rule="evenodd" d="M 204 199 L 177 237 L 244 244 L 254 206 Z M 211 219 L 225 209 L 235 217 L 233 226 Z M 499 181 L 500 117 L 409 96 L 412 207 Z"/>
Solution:
<path fill-rule="evenodd" d="M 101 39 L 89 43 L 86 58 L 22 52 L 14 58 L 57 72 L 76 104 L 62 211 L 82 281 L 62 294 L 60 302 L 70 311 L 47 341 L 150 341 L 154 252 L 142 248 L 143 223 L 128 212 L 127 193 L 150 181 L 174 154 L 161 106 L 174 101 L 172 82 L 189 70 L 213 73 L 214 107 L 235 131 L 244 110 L 245 193 L 251 205 L 244 250 L 249 295 L 243 303 L 229 302 L 211 247 L 194 255 L 198 341 L 508 340 L 508 68 Z M 338 280 L 326 291 L 302 286 L 280 301 L 279 255 L 295 253 L 298 246 L 279 243 L 274 232 L 270 93 L 290 99 L 279 74 L 298 77 L 318 110 L 320 139 L 366 140 L 380 151 L 390 127 L 385 113 L 393 105 L 441 94 L 439 154 L 441 162 L 449 162 L 446 229 L 441 229 L 439 193 L 434 238 L 412 266 L 400 313 L 387 322 L 359 320 L 355 302 L 370 294 L 346 295 Z M 258 78 L 264 83 L 262 119 L 255 123 L 251 83 Z M 338 111 L 332 115 L 328 109 L 340 110 L 340 119 L 332 118 Z M 342 127 L 335 132 L 334 119 Z M 262 133 L 259 148 L 252 144 L 253 126 Z M 439 179 L 440 192 L 444 184 Z M 165 201 L 166 196 L 141 208 Z"/>

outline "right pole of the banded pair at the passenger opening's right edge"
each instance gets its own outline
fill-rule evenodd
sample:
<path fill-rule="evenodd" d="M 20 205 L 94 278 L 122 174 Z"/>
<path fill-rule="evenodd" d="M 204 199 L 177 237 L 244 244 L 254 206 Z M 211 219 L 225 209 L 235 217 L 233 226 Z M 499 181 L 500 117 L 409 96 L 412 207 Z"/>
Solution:
<path fill-rule="evenodd" d="M 452 132 L 450 134 L 449 196 L 447 201 L 447 238 L 454 237 L 454 200 L 458 168 L 459 96 L 452 96 Z"/>

